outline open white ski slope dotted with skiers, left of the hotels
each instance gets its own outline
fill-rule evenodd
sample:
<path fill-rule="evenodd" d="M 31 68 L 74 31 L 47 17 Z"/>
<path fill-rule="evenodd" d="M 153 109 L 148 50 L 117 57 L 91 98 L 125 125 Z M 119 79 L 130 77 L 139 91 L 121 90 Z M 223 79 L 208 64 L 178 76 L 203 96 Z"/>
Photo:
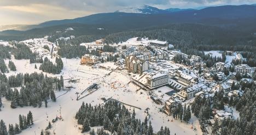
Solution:
<path fill-rule="evenodd" d="M 16 74 L 18 72 L 40 72 L 38 69 L 34 69 L 34 64 L 30 64 L 29 60 L 12 61 L 15 63 L 18 71 L 7 73 L 7 75 Z M 49 121 L 56 118 L 57 115 L 60 115 L 61 108 L 61 116 L 63 121 L 55 122 L 53 124 L 53 128 L 51 129 L 51 133 L 54 131 L 56 134 L 82 134 L 78 130 L 78 126 L 76 126 L 77 122 L 74 119 L 75 113 L 78 111 L 82 102 L 96 105 L 103 103 L 101 100 L 102 97 L 112 97 L 121 102 L 142 108 L 142 110 L 135 109 L 136 118 L 141 120 L 144 120 L 146 116 L 144 109 L 150 108 L 149 120 L 152 121 L 154 131 L 159 131 L 161 126 L 167 126 L 170 128 L 171 134 L 202 134 L 199 129 L 198 121 L 194 117 L 191 119 L 190 123 L 193 123 L 193 125 L 197 128 L 197 133 L 194 133 L 194 131 L 191 129 L 191 124 L 184 124 L 178 120 L 173 120 L 173 122 L 171 122 L 172 116 L 167 116 L 166 114 L 161 113 L 159 108 L 162 108 L 162 105 L 155 104 L 152 99 L 149 98 L 148 92 L 143 90 L 136 92 L 137 87 L 135 85 L 132 83 L 127 85 L 130 79 L 125 71 L 112 72 L 109 76 L 107 76 L 106 74 L 108 74 L 110 71 L 100 68 L 94 69 L 89 66 L 82 66 L 79 64 L 79 59 L 62 58 L 62 61 L 64 64 L 63 71 L 61 72 L 63 78 L 78 79 L 78 83 L 72 84 L 75 86 L 75 89 L 72 89 L 67 93 L 66 91 L 56 92 L 56 97 L 60 95 L 62 96 L 57 98 L 56 103 L 49 102 L 48 108 L 45 108 L 43 104 L 41 108 L 19 107 L 16 109 L 11 109 L 10 102 L 7 102 L 2 98 L 4 108 L 2 108 L 0 118 L 5 121 L 6 125 L 18 123 L 19 114 L 25 115 L 29 110 L 31 110 L 33 113 L 34 125 L 31 128 L 22 131 L 21 134 L 39 134 L 40 131 L 48 125 Z M 106 66 L 113 66 L 113 64 L 114 63 L 106 63 Z M 56 77 L 60 76 L 53 74 L 48 75 Z M 67 81 L 68 80 L 65 80 L 65 86 L 71 85 L 68 84 Z M 124 87 L 112 89 L 110 84 L 114 81 L 118 81 L 120 84 L 123 84 Z M 75 92 L 85 90 L 86 87 L 90 86 L 92 83 L 100 84 L 100 89 L 92 93 L 92 95 L 76 101 Z M 131 109 L 131 111 L 133 109 L 130 107 L 127 108 Z"/>

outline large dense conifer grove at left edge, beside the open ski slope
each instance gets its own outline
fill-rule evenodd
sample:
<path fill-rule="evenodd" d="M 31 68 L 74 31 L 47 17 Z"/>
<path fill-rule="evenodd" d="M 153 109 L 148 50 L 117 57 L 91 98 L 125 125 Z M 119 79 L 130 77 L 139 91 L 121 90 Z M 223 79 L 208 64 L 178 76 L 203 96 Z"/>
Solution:
<path fill-rule="evenodd" d="M 11 79 L 10 79 L 11 78 Z M 11 80 L 9 82 L 9 79 Z M 63 87 L 63 77 L 60 79 L 56 77 L 47 77 L 43 73 L 32 74 L 18 74 L 11 77 L 7 77 L 4 74 L 0 74 L 0 94 L 5 96 L 8 101 L 11 101 L 11 108 L 33 106 L 41 107 L 44 102 L 47 107 L 48 100 L 56 101 L 54 91 L 61 90 Z M 20 91 L 11 86 L 21 86 Z"/>

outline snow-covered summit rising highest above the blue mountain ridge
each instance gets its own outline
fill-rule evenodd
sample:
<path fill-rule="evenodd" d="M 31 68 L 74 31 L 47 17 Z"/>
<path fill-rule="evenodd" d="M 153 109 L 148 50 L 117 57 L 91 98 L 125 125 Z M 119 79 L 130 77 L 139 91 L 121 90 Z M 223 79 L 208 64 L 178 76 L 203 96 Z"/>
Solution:
<path fill-rule="evenodd" d="M 151 7 L 149 5 L 142 5 L 141 7 L 131 7 L 117 10 L 115 12 L 121 13 L 142 13 L 142 14 L 155 14 L 155 13 L 164 13 L 165 10 Z"/>

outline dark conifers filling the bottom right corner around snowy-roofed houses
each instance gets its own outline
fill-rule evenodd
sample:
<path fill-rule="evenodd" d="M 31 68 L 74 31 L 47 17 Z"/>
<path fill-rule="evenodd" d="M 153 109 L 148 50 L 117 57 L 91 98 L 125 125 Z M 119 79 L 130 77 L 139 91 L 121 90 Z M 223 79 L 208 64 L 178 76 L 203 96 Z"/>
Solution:
<path fill-rule="evenodd" d="M 236 135 L 252 135 L 256 133 L 255 121 L 255 95 L 256 87 L 255 83 L 240 84 L 243 87 L 243 95 L 240 97 L 232 95 L 228 97 L 223 90 L 216 91 L 214 93 L 213 102 L 210 102 L 210 98 L 197 96 L 194 102 L 191 104 L 191 110 L 194 115 L 199 118 L 200 125 L 204 126 L 212 115 L 212 109 L 224 109 L 224 104 L 229 104 L 231 107 L 235 107 L 238 110 L 239 118 L 226 119 L 215 121 L 212 127 L 212 134 L 236 134 Z M 231 90 L 238 90 L 240 86 L 232 83 Z"/>

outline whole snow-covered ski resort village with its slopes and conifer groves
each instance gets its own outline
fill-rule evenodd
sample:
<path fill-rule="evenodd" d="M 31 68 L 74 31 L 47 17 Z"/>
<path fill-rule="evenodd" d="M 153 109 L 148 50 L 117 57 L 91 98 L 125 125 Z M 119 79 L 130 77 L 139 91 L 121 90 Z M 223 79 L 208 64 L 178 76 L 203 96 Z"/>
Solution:
<path fill-rule="evenodd" d="M 256 67 L 240 51 L 74 39 L 1 40 L 0 134 L 224 134 L 253 111 Z"/>

